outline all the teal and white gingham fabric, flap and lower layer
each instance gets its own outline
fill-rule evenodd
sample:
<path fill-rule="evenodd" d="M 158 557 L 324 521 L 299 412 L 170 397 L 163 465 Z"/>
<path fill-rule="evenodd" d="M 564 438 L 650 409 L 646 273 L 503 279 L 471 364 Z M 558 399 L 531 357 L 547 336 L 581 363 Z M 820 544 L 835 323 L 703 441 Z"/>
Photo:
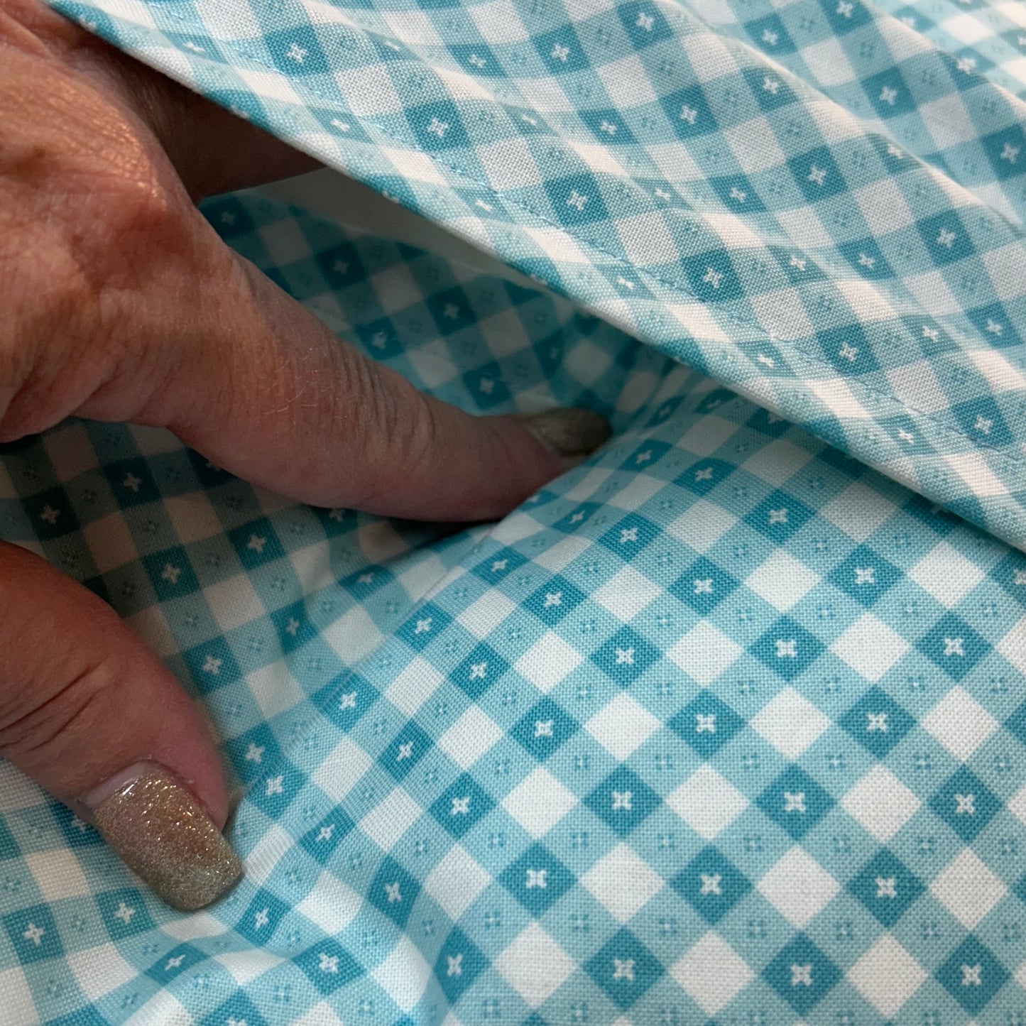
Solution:
<path fill-rule="evenodd" d="M 1026 1021 L 1023 6 L 60 7 L 540 279 L 208 204 L 341 336 L 617 433 L 459 531 L 6 446 L 0 531 L 196 695 L 246 875 L 171 912 L 0 768 L 0 1021 Z"/>

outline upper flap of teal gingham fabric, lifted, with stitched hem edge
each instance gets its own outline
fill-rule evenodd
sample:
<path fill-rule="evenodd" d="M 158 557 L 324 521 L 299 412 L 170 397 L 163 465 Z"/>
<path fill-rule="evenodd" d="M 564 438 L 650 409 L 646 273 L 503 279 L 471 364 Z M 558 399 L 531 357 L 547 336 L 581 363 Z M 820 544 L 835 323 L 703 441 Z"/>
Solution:
<path fill-rule="evenodd" d="M 1015 5 L 56 6 L 1026 545 Z"/>

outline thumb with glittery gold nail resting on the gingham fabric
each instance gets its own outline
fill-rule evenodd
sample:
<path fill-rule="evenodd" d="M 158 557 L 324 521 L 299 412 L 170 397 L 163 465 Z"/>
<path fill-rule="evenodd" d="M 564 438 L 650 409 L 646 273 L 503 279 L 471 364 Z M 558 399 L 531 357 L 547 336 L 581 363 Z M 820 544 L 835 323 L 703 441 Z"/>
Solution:
<path fill-rule="evenodd" d="M 228 798 L 196 707 L 89 591 L 0 543 L 0 756 L 93 823 L 182 910 L 239 877 Z"/>

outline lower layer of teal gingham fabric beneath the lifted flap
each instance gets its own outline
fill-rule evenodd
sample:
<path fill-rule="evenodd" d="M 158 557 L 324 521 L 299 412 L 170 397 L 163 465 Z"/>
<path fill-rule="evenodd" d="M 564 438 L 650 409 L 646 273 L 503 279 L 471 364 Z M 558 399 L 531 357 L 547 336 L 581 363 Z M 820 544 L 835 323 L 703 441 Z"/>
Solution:
<path fill-rule="evenodd" d="M 204 212 L 419 388 L 586 402 L 616 438 L 451 537 L 290 504 L 166 432 L 6 447 L 5 540 L 191 688 L 245 864 L 177 915 L 0 765 L 12 1022 L 1014 1013 L 1020 553 L 541 288 L 259 193 Z"/>

